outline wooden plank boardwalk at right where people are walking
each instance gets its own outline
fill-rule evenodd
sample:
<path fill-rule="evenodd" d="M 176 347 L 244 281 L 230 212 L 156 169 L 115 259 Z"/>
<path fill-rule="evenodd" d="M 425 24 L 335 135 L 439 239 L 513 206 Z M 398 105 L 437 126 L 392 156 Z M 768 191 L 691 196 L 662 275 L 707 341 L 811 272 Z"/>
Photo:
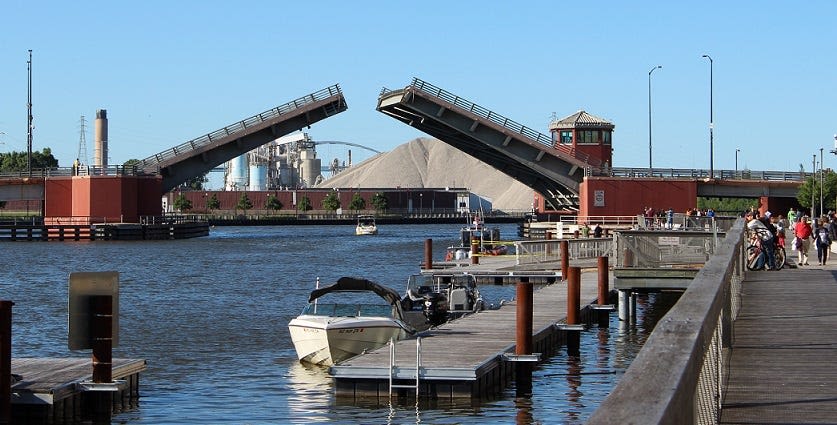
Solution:
<path fill-rule="evenodd" d="M 837 423 L 837 260 L 831 261 L 747 273 L 720 423 Z"/>

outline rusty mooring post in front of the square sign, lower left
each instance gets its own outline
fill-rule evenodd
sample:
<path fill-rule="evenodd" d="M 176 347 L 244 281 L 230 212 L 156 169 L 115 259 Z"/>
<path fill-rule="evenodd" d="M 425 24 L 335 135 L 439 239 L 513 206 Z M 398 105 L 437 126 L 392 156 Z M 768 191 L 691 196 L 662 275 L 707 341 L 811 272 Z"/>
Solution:
<path fill-rule="evenodd" d="M 93 382 L 113 381 L 113 297 L 90 297 L 91 338 L 93 339 Z M 94 422 L 109 421 L 111 417 L 111 392 L 94 391 L 92 414 Z"/>

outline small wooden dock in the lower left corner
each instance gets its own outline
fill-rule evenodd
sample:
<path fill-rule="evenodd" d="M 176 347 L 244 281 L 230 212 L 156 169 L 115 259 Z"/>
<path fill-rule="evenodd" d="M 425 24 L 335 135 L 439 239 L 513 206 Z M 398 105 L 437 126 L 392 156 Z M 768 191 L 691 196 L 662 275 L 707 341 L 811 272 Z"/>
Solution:
<path fill-rule="evenodd" d="M 113 379 L 119 383 L 105 389 L 113 412 L 136 404 L 145 369 L 142 359 L 113 359 Z M 90 358 L 12 359 L 12 423 L 78 423 L 90 410 L 92 389 L 85 381 L 92 373 Z"/>

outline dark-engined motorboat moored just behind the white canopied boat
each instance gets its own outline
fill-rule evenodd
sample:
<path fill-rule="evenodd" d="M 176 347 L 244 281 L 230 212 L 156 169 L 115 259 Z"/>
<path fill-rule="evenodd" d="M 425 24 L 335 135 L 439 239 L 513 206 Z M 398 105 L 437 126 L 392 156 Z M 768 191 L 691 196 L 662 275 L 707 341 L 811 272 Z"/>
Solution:
<path fill-rule="evenodd" d="M 485 309 L 476 278 L 467 273 L 411 275 L 402 305 L 421 310 L 431 326 Z"/>

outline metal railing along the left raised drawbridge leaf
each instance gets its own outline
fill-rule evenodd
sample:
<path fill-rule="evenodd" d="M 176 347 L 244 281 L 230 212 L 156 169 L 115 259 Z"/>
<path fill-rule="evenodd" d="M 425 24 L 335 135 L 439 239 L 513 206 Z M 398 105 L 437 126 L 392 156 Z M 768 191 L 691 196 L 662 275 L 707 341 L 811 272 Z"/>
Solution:
<path fill-rule="evenodd" d="M 181 143 L 180 145 L 175 146 L 171 149 L 167 149 L 160 153 L 149 156 L 148 158 L 145 158 L 140 162 L 140 167 L 147 170 L 167 159 L 174 158 L 177 155 L 197 150 L 223 137 L 227 137 L 236 133 L 242 133 L 254 126 L 262 124 L 265 121 L 287 114 L 305 105 L 328 99 L 329 97 L 338 95 L 340 93 L 342 93 L 342 91 L 340 90 L 339 84 L 335 84 L 333 86 L 329 86 L 324 89 L 315 91 L 314 93 L 311 93 L 309 95 L 300 97 L 298 99 L 294 99 L 283 105 L 279 105 L 275 108 L 268 109 L 267 111 L 264 111 L 260 114 L 253 115 L 252 117 L 245 118 L 241 121 L 230 124 L 222 129 L 215 130 L 209 134 L 205 134 L 201 137 L 189 140 L 188 142 Z"/>

